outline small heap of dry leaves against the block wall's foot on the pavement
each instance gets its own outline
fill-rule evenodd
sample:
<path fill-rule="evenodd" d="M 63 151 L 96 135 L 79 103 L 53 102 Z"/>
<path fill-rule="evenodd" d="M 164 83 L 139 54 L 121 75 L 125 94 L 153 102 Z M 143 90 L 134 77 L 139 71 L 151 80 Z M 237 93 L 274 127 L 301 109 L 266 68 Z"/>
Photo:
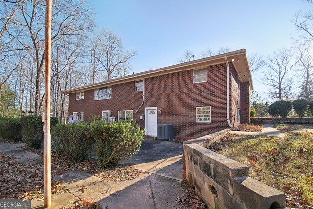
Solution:
<path fill-rule="evenodd" d="M 184 188 L 184 195 L 176 198 L 179 205 L 177 209 L 207 209 L 201 197 L 186 183 L 181 183 Z"/>

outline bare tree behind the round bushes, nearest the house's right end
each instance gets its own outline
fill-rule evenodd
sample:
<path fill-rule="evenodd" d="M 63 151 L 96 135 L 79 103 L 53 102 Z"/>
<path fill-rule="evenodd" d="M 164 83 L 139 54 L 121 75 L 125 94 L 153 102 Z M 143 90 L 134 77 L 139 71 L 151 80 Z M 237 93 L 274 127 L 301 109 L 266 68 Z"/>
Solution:
<path fill-rule="evenodd" d="M 264 64 L 267 70 L 264 71 L 263 83 L 270 87 L 268 94 L 279 100 L 293 98 L 291 72 L 297 64 L 293 50 L 279 49 L 268 56 Z"/>

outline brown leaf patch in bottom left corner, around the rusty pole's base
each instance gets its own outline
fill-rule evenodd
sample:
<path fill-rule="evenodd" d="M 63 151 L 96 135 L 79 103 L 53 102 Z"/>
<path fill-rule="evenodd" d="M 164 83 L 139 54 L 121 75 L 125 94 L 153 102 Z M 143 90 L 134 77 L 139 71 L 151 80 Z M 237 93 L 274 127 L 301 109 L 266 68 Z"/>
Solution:
<path fill-rule="evenodd" d="M 44 197 L 43 165 L 24 165 L 13 156 L 0 152 L 0 198 Z M 62 182 L 52 181 L 51 192 L 57 194 L 67 191 Z"/>

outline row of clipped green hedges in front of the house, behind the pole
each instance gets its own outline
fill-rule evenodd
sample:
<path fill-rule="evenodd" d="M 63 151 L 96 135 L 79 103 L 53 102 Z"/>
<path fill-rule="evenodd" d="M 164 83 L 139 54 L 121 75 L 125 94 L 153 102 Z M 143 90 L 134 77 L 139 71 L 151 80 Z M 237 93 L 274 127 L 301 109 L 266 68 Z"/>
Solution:
<path fill-rule="evenodd" d="M 28 146 L 40 148 L 43 143 L 43 122 L 40 116 L 22 119 L 0 118 L 0 137 L 24 141 Z M 57 124 L 51 119 L 51 140 L 55 151 L 74 161 L 89 157 L 95 147 L 99 165 L 110 166 L 135 155 L 144 139 L 144 130 L 135 121 L 106 123 L 95 120 L 88 123 Z"/>

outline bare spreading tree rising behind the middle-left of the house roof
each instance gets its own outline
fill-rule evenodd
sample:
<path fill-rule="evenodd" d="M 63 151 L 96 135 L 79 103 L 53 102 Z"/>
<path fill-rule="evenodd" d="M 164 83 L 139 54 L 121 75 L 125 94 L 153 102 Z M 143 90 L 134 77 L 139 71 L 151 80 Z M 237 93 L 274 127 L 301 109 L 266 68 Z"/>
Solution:
<path fill-rule="evenodd" d="M 124 51 L 121 38 L 105 28 L 91 41 L 89 53 L 94 72 L 93 82 L 99 75 L 102 81 L 125 76 L 130 69 L 129 59 L 137 54 L 134 50 Z"/>

